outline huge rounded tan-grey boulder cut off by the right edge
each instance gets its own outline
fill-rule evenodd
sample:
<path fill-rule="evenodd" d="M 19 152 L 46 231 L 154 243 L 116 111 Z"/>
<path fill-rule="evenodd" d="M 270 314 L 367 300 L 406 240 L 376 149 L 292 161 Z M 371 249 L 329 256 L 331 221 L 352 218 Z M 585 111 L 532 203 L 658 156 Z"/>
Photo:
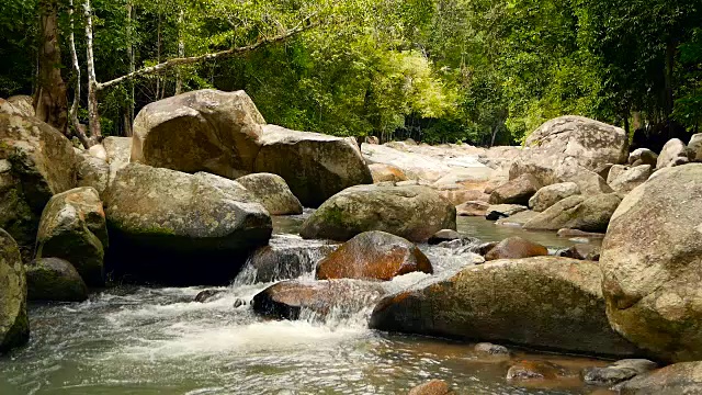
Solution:
<path fill-rule="evenodd" d="M 701 359 L 702 165 L 659 170 L 626 195 L 600 264 L 614 329 L 659 359 Z"/>

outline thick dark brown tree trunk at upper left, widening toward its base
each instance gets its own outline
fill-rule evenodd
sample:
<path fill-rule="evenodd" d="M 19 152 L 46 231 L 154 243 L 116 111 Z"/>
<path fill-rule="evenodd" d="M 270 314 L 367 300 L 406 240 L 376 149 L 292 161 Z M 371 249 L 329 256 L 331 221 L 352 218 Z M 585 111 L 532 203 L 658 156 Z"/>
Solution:
<path fill-rule="evenodd" d="M 39 1 L 41 40 L 38 50 L 37 88 L 34 94 L 36 116 L 68 133 L 68 98 L 61 78 L 61 53 L 58 42 L 58 2 Z"/>

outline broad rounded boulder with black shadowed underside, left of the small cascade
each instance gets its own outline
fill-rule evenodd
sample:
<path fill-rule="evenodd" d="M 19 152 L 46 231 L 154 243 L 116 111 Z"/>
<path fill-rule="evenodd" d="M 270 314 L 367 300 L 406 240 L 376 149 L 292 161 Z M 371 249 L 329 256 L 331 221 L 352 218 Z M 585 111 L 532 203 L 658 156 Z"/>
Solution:
<path fill-rule="evenodd" d="M 226 283 L 272 233 L 249 191 L 208 173 L 129 163 L 105 203 L 112 269 L 139 280 Z"/>

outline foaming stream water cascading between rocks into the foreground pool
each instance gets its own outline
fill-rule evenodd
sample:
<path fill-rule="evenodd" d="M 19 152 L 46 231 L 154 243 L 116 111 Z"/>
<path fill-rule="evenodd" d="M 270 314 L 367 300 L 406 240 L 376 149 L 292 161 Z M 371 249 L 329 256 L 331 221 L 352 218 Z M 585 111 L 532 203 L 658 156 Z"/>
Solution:
<path fill-rule="evenodd" d="M 313 281 L 320 256 L 309 250 L 318 241 L 290 235 L 306 215 L 276 218 L 271 245 L 294 247 L 305 260 L 299 278 Z M 476 234 L 495 232 L 485 221 L 473 226 Z M 551 238 L 545 242 L 551 247 L 568 244 Z M 464 251 L 422 249 L 439 275 L 473 259 Z M 520 386 L 505 376 L 516 360 L 553 361 L 574 373 L 602 361 L 519 350 L 511 359 L 486 359 L 465 343 L 370 330 L 373 301 L 350 314 L 307 312 L 298 321 L 259 318 L 248 303 L 234 307 L 271 284 L 257 282 L 254 271 L 245 269 L 206 303 L 193 302 L 202 287 L 123 286 L 84 303 L 32 305 L 30 345 L 0 359 L 0 394 L 406 394 L 431 379 L 445 380 L 465 395 L 597 390 L 577 377 Z M 395 292 L 430 280 L 414 273 L 383 286 Z"/>

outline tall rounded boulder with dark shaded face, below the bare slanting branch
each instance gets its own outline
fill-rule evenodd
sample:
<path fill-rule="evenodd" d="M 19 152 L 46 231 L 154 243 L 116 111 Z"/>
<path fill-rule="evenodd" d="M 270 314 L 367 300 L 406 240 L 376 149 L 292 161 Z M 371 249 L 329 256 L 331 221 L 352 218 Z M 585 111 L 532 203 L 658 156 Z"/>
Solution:
<path fill-rule="evenodd" d="M 244 91 L 205 89 L 159 100 L 134 120 L 132 161 L 230 179 L 246 176 L 253 171 L 264 123 Z"/>

